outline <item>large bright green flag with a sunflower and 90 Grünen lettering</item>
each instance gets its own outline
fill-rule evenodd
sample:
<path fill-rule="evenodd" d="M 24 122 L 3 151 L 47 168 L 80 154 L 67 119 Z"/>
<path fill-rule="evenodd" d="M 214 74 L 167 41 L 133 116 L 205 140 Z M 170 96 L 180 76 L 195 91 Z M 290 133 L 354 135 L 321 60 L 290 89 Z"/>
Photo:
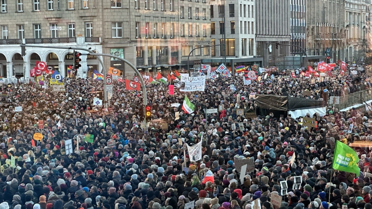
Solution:
<path fill-rule="evenodd" d="M 336 141 L 336 148 L 333 154 L 332 168 L 334 170 L 355 173 L 359 176 L 360 168 L 358 167 L 359 157 L 348 145 Z"/>

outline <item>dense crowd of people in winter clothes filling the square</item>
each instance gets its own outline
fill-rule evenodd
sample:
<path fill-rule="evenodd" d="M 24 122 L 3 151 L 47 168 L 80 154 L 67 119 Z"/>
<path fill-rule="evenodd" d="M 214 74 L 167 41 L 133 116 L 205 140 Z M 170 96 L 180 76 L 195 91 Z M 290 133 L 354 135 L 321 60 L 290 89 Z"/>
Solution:
<path fill-rule="evenodd" d="M 309 90 L 309 98 L 320 100 L 322 87 L 344 95 L 370 88 L 370 78 L 343 75 L 311 83 L 272 73 L 274 79 L 250 86 L 241 77 L 208 79 L 203 92 L 174 95 L 165 84 L 147 83 L 149 124 L 141 123 L 142 92 L 127 91 L 118 81 L 108 108 L 93 105 L 102 81 L 68 78 L 66 92 L 0 83 L 0 209 L 188 209 L 190 202 L 195 209 L 253 209 L 257 199 L 262 209 L 371 209 L 368 148 L 357 149 L 359 175 L 331 172 L 337 140 L 371 141 L 371 113 L 315 114 L 318 127 L 307 129 L 299 118 L 236 112 L 255 112 L 251 93 L 302 97 Z M 195 105 L 191 114 L 182 110 L 185 94 Z M 205 109 L 222 104 L 224 110 L 205 118 Z M 43 135 L 41 141 L 33 139 L 35 133 Z M 85 134 L 94 136 L 93 143 Z M 66 154 L 67 139 L 72 154 Z M 200 141 L 202 160 L 191 161 L 187 145 Z M 253 159 L 254 171 L 238 172 L 236 159 Z M 302 176 L 299 189 L 292 187 L 295 176 Z M 287 182 L 285 193 L 280 181 Z M 282 196 L 280 206 L 272 204 L 274 194 Z"/>

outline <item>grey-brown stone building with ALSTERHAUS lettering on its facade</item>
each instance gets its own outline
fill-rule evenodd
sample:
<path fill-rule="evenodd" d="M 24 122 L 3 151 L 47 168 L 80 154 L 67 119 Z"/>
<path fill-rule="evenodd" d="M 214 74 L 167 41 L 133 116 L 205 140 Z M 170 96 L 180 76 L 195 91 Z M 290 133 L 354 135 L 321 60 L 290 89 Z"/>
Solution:
<path fill-rule="evenodd" d="M 345 0 L 306 1 L 308 55 L 325 55 L 333 61 L 345 59 Z"/>

